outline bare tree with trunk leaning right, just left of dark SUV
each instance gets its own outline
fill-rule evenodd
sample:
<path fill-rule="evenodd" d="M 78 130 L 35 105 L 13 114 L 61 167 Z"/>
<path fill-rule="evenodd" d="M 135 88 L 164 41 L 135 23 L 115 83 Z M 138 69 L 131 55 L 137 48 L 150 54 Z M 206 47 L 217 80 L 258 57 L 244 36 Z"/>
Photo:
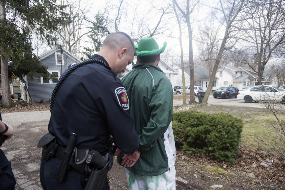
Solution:
<path fill-rule="evenodd" d="M 237 16 L 239 15 L 241 10 L 245 6 L 245 3 L 244 3 L 244 0 L 241 0 L 241 1 L 219 0 L 219 5 L 220 5 L 219 8 L 215 8 L 215 9 L 221 11 L 221 13 L 223 14 L 223 22 L 224 22 L 224 26 L 225 26 L 225 33 L 223 36 L 223 40 L 220 44 L 218 54 L 215 58 L 215 65 L 213 67 L 213 71 L 211 73 L 209 85 L 207 87 L 206 93 L 205 93 L 203 101 L 202 101 L 203 104 L 207 103 L 210 92 L 212 91 L 215 75 L 216 75 L 218 66 L 220 64 L 224 50 L 225 49 L 231 49 L 235 45 L 235 42 L 233 42 L 233 44 L 229 44 L 227 42 L 228 42 L 228 39 L 231 37 L 230 35 L 232 35 L 231 33 L 237 32 L 237 30 L 233 29 L 234 22 L 238 22 Z M 229 45 L 229 47 L 226 47 L 227 44 Z"/>

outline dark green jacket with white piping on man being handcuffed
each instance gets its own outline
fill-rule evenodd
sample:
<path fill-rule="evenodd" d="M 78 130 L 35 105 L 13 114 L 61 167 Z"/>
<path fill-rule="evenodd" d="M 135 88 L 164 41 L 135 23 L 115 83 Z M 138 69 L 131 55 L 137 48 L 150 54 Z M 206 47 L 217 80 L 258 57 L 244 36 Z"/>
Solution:
<path fill-rule="evenodd" d="M 148 64 L 136 64 L 122 79 L 129 97 L 129 110 L 140 137 L 141 156 L 133 173 L 155 176 L 175 163 L 175 144 L 171 126 L 173 91 L 162 70 Z M 117 162 L 121 164 L 121 156 Z"/>

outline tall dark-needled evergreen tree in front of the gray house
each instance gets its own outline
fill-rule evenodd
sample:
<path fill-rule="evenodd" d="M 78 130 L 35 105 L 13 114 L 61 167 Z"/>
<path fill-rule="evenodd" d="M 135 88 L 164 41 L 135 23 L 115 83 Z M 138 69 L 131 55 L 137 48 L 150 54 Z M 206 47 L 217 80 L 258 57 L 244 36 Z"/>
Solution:
<path fill-rule="evenodd" d="M 57 28 L 66 16 L 56 0 L 0 0 L 0 56 L 3 107 L 11 107 L 11 73 L 23 76 L 47 76 L 46 68 L 32 53 L 32 32 L 48 43 L 54 43 L 50 31 Z"/>

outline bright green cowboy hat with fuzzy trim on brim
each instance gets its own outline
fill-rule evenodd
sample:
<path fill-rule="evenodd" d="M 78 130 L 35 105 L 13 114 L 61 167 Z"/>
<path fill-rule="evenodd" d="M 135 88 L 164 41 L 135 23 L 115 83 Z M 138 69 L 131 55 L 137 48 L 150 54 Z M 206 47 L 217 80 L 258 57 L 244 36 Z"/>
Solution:
<path fill-rule="evenodd" d="M 158 44 L 156 43 L 153 37 L 142 38 L 139 42 L 139 45 L 135 45 L 136 56 L 145 57 L 161 54 L 162 52 L 164 52 L 166 44 L 167 43 L 164 42 L 162 48 L 159 49 Z"/>

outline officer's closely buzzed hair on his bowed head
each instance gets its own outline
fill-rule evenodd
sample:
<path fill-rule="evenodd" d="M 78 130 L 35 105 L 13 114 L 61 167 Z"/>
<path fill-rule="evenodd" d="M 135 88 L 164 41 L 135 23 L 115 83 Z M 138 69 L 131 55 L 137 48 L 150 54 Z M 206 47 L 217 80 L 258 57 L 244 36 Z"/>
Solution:
<path fill-rule="evenodd" d="M 102 48 L 118 49 L 118 48 L 127 48 L 128 50 L 133 49 L 134 55 L 136 54 L 135 46 L 131 37 L 125 32 L 115 32 L 109 34 L 102 45 Z"/>

